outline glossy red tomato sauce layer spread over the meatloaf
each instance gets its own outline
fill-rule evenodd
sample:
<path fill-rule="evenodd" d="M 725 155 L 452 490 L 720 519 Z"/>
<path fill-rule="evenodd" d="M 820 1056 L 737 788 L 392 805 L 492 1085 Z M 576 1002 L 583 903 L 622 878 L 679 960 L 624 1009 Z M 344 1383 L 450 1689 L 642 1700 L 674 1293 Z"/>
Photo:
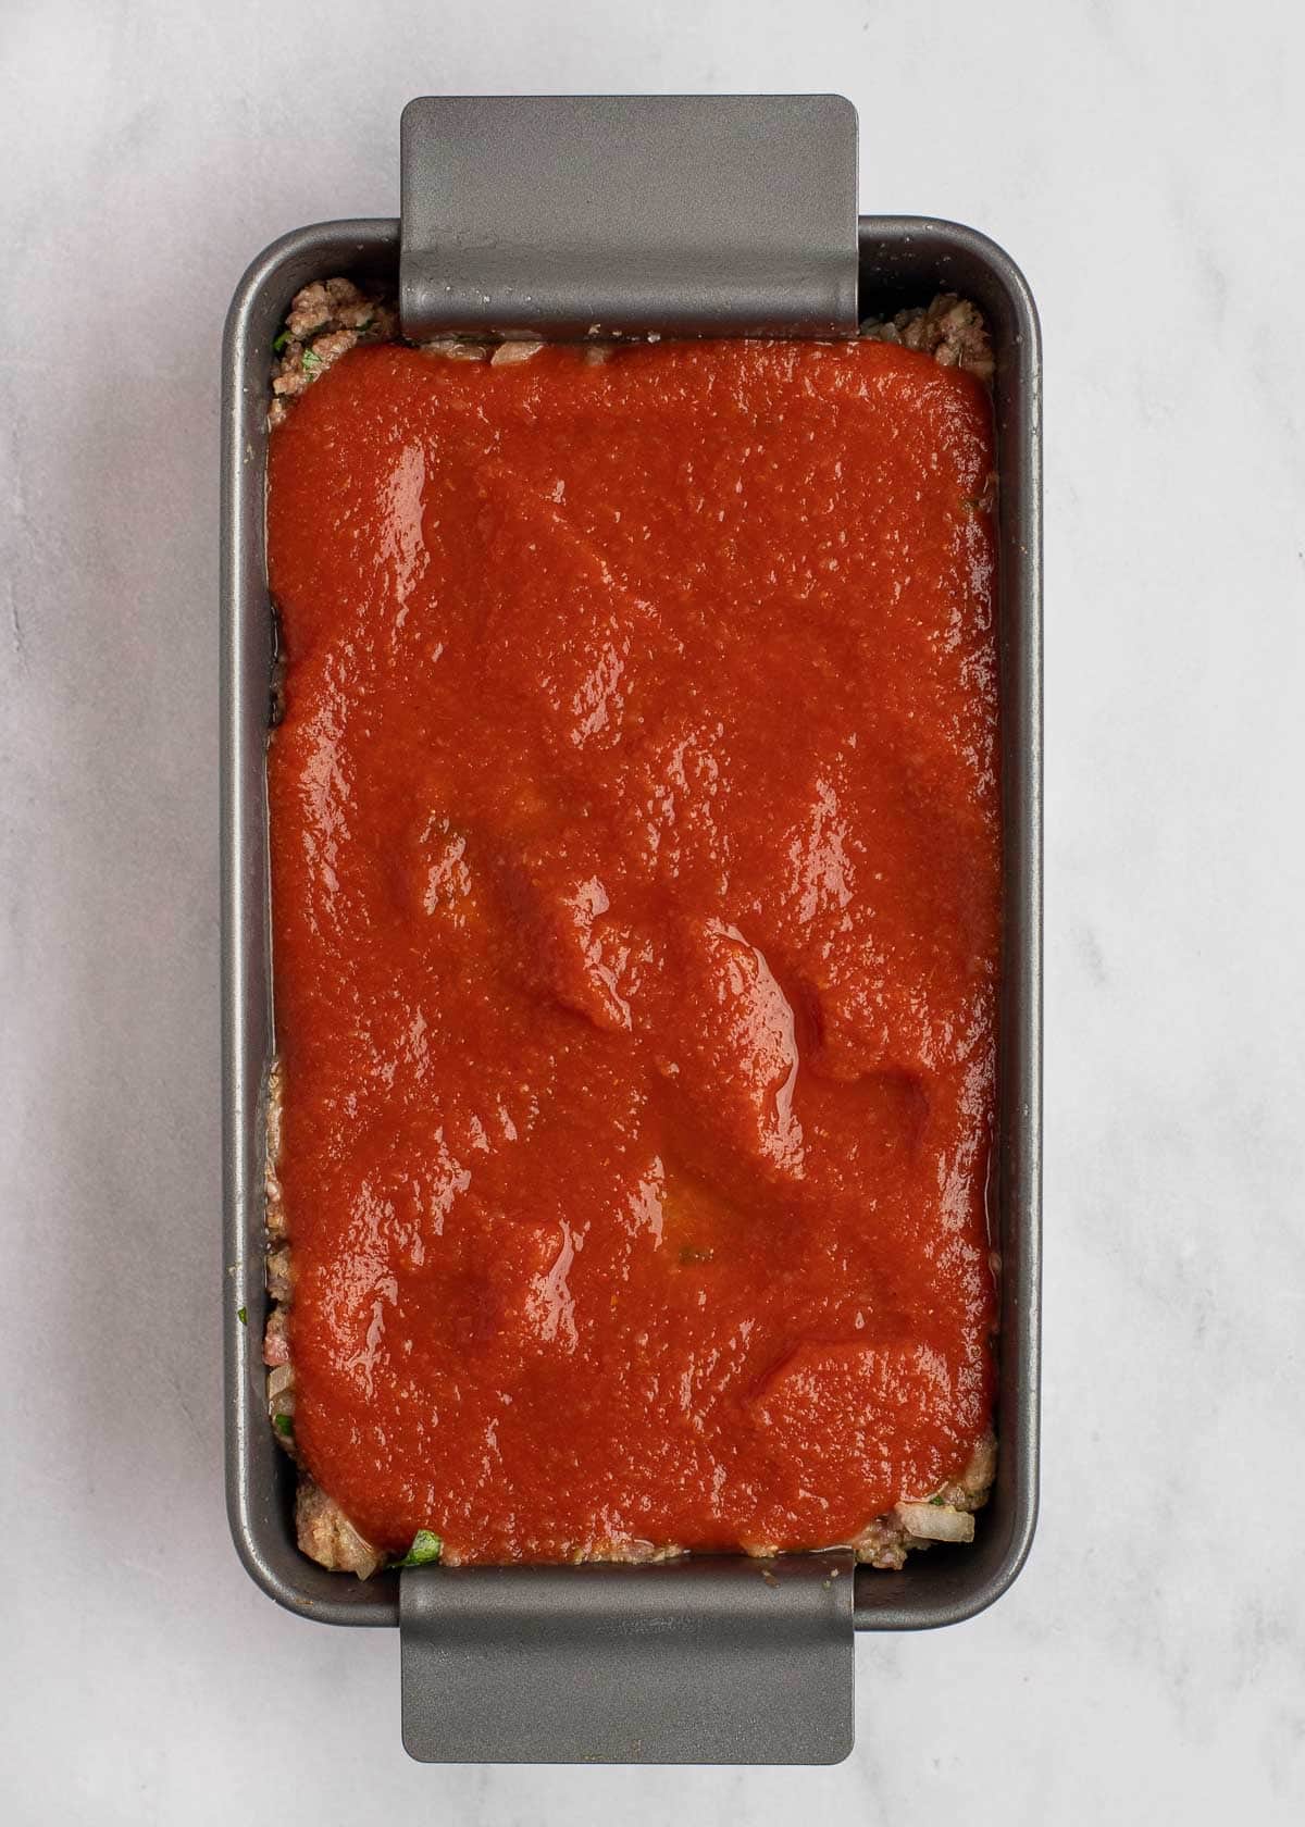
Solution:
<path fill-rule="evenodd" d="M 991 1418 L 991 407 L 344 356 L 272 437 L 296 1445 L 448 1562 L 815 1547 Z"/>

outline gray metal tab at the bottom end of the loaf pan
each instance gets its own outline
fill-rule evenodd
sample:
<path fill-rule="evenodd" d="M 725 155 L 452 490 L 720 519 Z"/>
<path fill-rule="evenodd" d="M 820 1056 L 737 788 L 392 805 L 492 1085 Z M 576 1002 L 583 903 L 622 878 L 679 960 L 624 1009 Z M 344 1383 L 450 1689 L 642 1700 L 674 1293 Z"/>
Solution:
<path fill-rule="evenodd" d="M 839 1763 L 852 1555 L 420 1568 L 404 1745 L 426 1763 Z"/>

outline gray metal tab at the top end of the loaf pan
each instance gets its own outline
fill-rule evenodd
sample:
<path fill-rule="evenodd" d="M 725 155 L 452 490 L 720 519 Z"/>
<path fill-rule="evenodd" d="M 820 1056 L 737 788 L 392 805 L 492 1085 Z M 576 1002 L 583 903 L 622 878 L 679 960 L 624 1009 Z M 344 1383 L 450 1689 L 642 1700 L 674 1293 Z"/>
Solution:
<path fill-rule="evenodd" d="M 404 334 L 850 336 L 841 95 L 422 97 L 402 121 Z"/>

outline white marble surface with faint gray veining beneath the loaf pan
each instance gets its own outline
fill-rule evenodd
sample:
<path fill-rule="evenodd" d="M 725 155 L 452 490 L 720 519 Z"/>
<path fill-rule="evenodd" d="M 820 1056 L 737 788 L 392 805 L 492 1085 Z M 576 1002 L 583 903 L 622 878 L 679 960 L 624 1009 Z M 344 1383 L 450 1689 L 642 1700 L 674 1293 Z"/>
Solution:
<path fill-rule="evenodd" d="M 7 0 L 0 1818 L 1300 1818 L 1303 51 L 1272 0 Z M 861 1639 L 841 1769 L 417 1769 L 395 1637 L 274 1610 L 221 1505 L 219 322 L 393 212 L 409 95 L 680 88 L 844 90 L 865 205 L 1042 305 L 1042 1527 Z"/>

